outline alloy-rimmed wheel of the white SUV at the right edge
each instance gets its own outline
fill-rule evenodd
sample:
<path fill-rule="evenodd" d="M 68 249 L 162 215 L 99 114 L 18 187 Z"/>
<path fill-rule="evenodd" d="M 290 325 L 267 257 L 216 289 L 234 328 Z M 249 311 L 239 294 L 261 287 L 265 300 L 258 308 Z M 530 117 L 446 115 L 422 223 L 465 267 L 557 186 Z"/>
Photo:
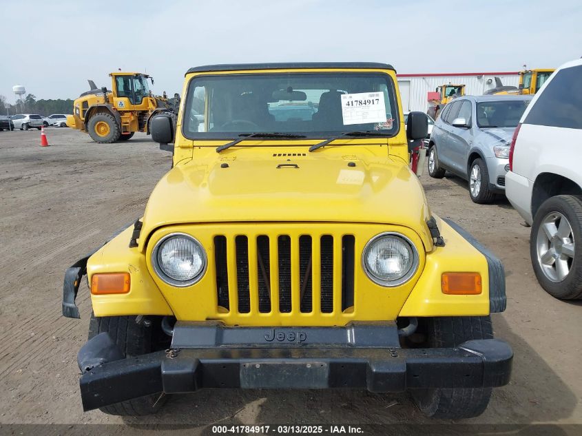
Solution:
<path fill-rule="evenodd" d="M 539 284 L 555 298 L 582 298 L 581 241 L 582 196 L 545 200 L 534 217 L 530 256 Z"/>

